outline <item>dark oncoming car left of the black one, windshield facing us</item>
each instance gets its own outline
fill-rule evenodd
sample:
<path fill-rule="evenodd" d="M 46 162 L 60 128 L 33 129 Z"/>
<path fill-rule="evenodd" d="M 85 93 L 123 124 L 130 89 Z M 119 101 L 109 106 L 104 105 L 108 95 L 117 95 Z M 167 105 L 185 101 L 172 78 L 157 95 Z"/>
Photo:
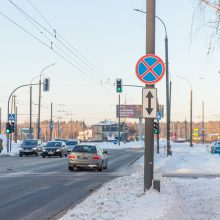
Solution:
<path fill-rule="evenodd" d="M 19 149 L 19 156 L 22 157 L 23 155 L 36 155 L 38 156 L 38 152 L 41 151 L 42 142 L 38 139 L 26 139 L 20 145 Z"/>

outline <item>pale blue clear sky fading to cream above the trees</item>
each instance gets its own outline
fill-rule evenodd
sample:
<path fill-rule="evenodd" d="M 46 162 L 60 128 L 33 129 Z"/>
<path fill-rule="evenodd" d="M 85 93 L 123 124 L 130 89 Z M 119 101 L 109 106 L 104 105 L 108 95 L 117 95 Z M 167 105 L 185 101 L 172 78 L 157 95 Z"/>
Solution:
<path fill-rule="evenodd" d="M 220 104 L 216 102 L 220 92 L 219 45 L 207 55 L 211 31 L 205 27 L 197 4 L 196 0 L 156 1 L 156 15 L 164 21 L 168 31 L 171 120 L 189 120 L 191 86 L 193 120 L 201 120 L 203 100 L 205 120 L 220 118 Z M 53 63 L 55 65 L 45 69 L 42 76 L 50 77 L 50 91 L 42 92 L 42 120 L 49 119 L 51 102 L 54 120 L 72 118 L 88 124 L 116 120 L 116 78 L 122 78 L 123 84 L 143 85 L 136 77 L 135 65 L 145 55 L 146 18 L 133 10 L 136 8 L 146 10 L 146 1 L 2 0 L 2 120 L 7 119 L 10 93 L 20 85 L 37 83 L 41 71 Z M 155 54 L 163 60 L 164 37 L 164 28 L 156 21 Z M 165 105 L 165 77 L 156 87 L 159 103 Z M 126 99 L 127 104 L 141 104 L 141 95 L 140 88 L 124 87 L 121 102 Z M 18 121 L 28 121 L 29 87 L 16 92 L 16 102 Z M 33 86 L 33 103 L 33 120 L 36 121 L 37 86 Z"/>

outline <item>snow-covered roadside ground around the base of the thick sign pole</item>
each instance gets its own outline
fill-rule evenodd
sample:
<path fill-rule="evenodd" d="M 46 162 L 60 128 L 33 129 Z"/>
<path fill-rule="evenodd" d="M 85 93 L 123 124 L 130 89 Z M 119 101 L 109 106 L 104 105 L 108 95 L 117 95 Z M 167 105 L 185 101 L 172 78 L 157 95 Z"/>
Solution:
<path fill-rule="evenodd" d="M 164 143 L 162 143 L 163 146 Z M 161 192 L 143 192 L 143 158 L 135 173 L 116 178 L 69 210 L 60 220 L 207 220 L 220 219 L 220 155 L 207 145 L 172 143 L 172 157 L 155 154 L 155 178 Z M 214 178 L 168 178 L 166 174 L 216 175 Z"/>

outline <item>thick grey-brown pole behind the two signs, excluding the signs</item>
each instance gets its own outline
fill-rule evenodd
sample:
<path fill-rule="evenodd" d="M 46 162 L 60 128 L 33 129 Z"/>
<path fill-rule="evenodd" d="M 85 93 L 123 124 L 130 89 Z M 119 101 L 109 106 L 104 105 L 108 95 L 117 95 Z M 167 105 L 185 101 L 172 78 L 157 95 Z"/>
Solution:
<path fill-rule="evenodd" d="M 155 54 L 155 10 L 156 0 L 147 0 L 146 10 L 146 54 Z M 145 85 L 154 88 L 154 85 Z M 154 119 L 145 118 L 144 191 L 149 190 L 153 181 L 154 163 Z"/>

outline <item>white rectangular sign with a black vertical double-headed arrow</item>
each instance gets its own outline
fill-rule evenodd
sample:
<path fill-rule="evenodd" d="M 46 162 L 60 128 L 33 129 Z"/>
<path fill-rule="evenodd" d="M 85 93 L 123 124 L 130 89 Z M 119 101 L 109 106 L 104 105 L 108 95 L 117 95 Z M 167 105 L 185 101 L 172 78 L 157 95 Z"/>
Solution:
<path fill-rule="evenodd" d="M 142 91 L 142 117 L 157 117 L 157 89 L 144 88 Z"/>

